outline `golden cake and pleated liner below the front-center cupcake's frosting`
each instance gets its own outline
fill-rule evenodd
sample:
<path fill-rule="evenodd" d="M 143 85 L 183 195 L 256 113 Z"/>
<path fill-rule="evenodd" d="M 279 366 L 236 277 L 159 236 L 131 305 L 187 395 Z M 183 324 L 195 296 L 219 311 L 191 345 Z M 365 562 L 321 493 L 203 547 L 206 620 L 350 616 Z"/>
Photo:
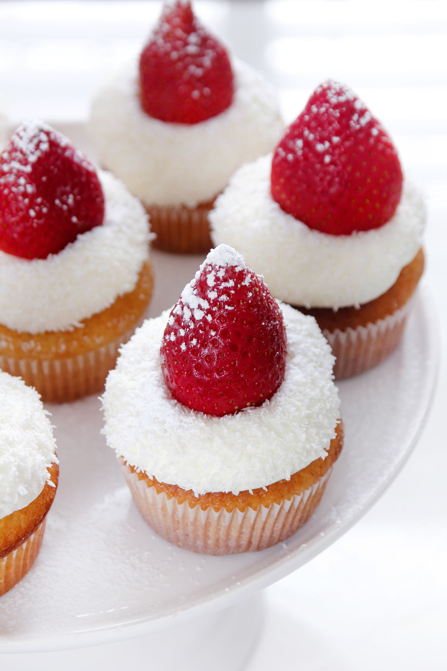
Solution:
<path fill-rule="evenodd" d="M 288 539 L 320 503 L 332 465 L 343 442 L 341 423 L 326 459 L 317 459 L 290 480 L 241 492 L 192 491 L 158 482 L 122 461 L 127 484 L 143 519 L 180 548 L 202 554 L 235 554 L 264 550 Z"/>

